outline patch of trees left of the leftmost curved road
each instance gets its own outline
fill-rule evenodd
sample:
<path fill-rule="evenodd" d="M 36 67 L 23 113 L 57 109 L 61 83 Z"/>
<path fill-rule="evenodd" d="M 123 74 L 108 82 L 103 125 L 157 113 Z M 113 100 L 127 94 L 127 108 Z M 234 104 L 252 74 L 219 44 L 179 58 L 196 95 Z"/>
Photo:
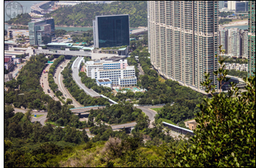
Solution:
<path fill-rule="evenodd" d="M 9 89 L 4 92 L 4 103 L 13 104 L 16 108 L 23 106 L 24 108 L 45 110 L 45 105 L 51 98 L 43 92 L 39 84 L 39 77 L 47 61 L 44 55 L 32 56 L 20 70 L 18 79 L 12 79 L 5 83 Z"/>

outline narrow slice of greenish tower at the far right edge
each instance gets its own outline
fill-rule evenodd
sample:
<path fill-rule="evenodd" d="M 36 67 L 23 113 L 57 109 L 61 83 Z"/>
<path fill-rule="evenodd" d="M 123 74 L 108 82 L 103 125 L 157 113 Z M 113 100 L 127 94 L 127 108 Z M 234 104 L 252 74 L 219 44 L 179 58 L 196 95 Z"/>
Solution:
<path fill-rule="evenodd" d="M 252 76 L 255 72 L 255 1 L 249 1 L 248 11 L 248 76 Z"/>

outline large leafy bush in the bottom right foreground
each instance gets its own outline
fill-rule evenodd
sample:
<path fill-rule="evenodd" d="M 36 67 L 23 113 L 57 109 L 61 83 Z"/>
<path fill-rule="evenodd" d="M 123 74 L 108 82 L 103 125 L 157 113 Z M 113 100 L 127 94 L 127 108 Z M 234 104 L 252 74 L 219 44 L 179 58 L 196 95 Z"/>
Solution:
<path fill-rule="evenodd" d="M 220 52 L 223 52 L 220 48 Z M 220 89 L 226 82 L 227 71 L 220 56 L 221 67 L 214 71 Z M 227 94 L 217 92 L 209 74 L 201 84 L 210 92 L 211 99 L 197 105 L 195 121 L 199 124 L 195 136 L 184 148 L 176 150 L 168 145 L 162 164 L 166 167 L 255 167 L 255 76 L 244 78 L 245 92 L 230 82 Z"/>

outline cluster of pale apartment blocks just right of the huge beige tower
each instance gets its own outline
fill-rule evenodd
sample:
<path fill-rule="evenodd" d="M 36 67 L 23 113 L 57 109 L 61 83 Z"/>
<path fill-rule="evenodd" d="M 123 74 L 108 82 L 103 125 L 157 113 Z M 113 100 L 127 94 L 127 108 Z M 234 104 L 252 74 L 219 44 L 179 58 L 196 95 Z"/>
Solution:
<path fill-rule="evenodd" d="M 229 57 L 248 58 L 248 31 L 222 28 L 219 30 L 219 45 L 222 45 L 225 55 Z"/>

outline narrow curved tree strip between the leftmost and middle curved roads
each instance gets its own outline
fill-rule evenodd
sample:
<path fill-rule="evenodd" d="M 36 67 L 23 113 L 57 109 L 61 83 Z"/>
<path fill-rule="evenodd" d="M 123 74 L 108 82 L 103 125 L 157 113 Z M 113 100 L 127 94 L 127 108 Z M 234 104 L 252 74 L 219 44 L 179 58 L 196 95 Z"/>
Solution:
<path fill-rule="evenodd" d="M 56 67 L 59 65 L 59 63 L 61 63 L 64 60 L 65 60 L 64 55 L 61 55 L 56 60 L 54 60 L 52 65 L 50 65 L 50 69 L 48 72 L 48 82 L 49 82 L 49 87 L 50 89 L 53 90 L 53 92 L 56 92 L 56 89 L 58 89 L 58 84 L 56 84 L 53 79 L 54 73 L 56 71 Z"/>

